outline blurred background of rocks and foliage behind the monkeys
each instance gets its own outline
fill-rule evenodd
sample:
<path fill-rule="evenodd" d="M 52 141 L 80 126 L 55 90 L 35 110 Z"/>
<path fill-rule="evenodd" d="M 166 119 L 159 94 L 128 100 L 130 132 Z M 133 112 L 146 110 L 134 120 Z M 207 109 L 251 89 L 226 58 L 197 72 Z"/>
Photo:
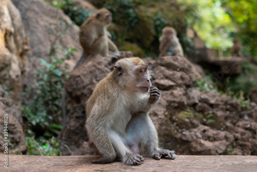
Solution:
<path fill-rule="evenodd" d="M 162 94 L 151 118 L 163 147 L 178 155 L 257 155 L 257 2 L 250 0 L 1 1 L 1 153 L 8 114 L 9 154 L 98 154 L 84 129 L 84 104 L 112 58 L 73 69 L 83 52 L 79 27 L 102 7 L 113 14 L 107 30 L 122 55 L 150 64 Z M 166 26 L 185 57 L 158 57 Z"/>

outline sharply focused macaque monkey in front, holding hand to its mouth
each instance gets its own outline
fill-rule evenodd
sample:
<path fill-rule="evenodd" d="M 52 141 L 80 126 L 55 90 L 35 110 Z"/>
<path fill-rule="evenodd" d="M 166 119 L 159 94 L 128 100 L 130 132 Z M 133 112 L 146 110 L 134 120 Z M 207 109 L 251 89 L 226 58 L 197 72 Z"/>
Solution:
<path fill-rule="evenodd" d="M 138 57 L 116 62 L 86 102 L 86 129 L 103 156 L 92 163 L 111 163 L 116 158 L 126 165 L 141 165 L 139 147 L 150 157 L 175 159 L 173 150 L 161 149 L 149 112 L 160 98 L 151 88 L 148 65 Z"/>

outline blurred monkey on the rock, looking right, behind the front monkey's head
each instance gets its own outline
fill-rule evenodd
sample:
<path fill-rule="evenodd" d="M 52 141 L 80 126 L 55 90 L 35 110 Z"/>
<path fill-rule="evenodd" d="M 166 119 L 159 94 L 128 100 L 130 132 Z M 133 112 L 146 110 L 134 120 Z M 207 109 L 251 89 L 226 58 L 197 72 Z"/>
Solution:
<path fill-rule="evenodd" d="M 96 14 L 87 18 L 80 27 L 80 44 L 83 48 L 82 62 L 88 55 L 107 56 L 109 49 L 119 53 L 118 48 L 108 37 L 107 27 L 112 23 L 112 13 L 101 8 Z M 82 63 L 79 61 L 79 63 Z M 79 64 L 80 65 L 80 64 Z"/>

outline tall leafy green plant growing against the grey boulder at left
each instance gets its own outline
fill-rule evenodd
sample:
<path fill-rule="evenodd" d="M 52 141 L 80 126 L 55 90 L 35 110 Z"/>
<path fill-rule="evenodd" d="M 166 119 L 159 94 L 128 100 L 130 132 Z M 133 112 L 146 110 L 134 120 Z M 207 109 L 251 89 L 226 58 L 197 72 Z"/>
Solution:
<path fill-rule="evenodd" d="M 22 105 L 22 115 L 29 122 L 27 125 L 41 126 L 47 137 L 57 135 L 61 130 L 60 126 L 54 123 L 61 123 L 62 120 L 61 97 L 69 72 L 64 65 L 64 60 L 72 58 L 73 53 L 78 51 L 75 48 L 62 50 L 61 47 L 55 46 L 61 35 L 66 33 L 71 25 L 60 21 L 60 18 L 57 19 L 56 24 L 50 25 L 53 25 L 55 32 L 49 33 L 54 34 L 49 51 L 49 62 L 43 58 L 40 59 L 42 69 L 34 71 L 36 87 L 27 88 L 26 93 L 23 93 L 30 95 L 32 100 L 30 99 Z M 63 26 L 64 29 L 60 29 L 60 26 Z M 61 66 L 63 67 L 61 68 Z"/>

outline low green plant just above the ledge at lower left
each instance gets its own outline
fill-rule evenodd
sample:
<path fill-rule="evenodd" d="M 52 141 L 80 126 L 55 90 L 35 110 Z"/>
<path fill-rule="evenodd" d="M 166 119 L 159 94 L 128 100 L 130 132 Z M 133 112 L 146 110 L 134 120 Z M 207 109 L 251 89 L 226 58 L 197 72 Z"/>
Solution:
<path fill-rule="evenodd" d="M 58 148 L 59 143 L 54 137 L 49 140 L 43 137 L 37 140 L 35 140 L 35 136 L 26 137 L 25 144 L 28 147 L 27 155 L 59 156 L 61 153 L 61 150 Z"/>

